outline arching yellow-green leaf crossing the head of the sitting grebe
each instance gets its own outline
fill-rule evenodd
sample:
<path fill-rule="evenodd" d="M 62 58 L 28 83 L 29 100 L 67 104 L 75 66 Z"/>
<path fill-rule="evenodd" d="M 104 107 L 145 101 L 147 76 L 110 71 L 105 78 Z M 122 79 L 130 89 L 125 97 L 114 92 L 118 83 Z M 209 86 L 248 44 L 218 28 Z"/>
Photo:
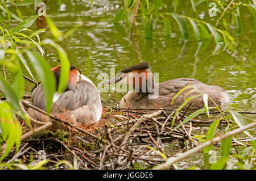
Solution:
<path fill-rule="evenodd" d="M 54 47 L 57 50 L 57 52 L 59 54 L 61 67 L 60 67 L 60 81 L 59 81 L 59 86 L 58 86 L 57 92 L 59 94 L 61 94 L 61 92 L 65 91 L 65 89 L 67 88 L 67 84 L 68 84 L 69 69 L 70 69 L 68 54 L 65 52 L 65 50 L 62 47 L 60 47 L 59 44 L 56 44 L 51 39 L 43 40 L 42 44 L 51 45 L 52 47 Z"/>

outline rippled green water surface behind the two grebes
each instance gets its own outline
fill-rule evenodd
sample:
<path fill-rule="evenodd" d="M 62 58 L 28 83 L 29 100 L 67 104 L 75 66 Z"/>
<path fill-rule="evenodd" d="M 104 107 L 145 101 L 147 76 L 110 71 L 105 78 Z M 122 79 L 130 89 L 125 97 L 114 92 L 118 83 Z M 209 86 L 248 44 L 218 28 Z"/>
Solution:
<path fill-rule="evenodd" d="M 183 43 L 173 19 L 171 37 L 164 36 L 163 21 L 159 18 L 155 19 L 153 38 L 144 39 L 144 24 L 142 19 L 138 18 L 139 23 L 134 30 L 136 35 L 129 39 L 126 24 L 117 26 L 113 23 L 115 14 L 123 6 L 122 1 L 93 0 L 93 7 L 90 1 L 62 2 L 60 11 L 56 1 L 48 1 L 47 15 L 51 16 L 61 32 L 67 32 L 77 24 L 82 24 L 75 33 L 59 44 L 67 51 L 70 62 L 96 85 L 101 81 L 97 78 L 99 73 L 110 74 L 110 68 L 113 67 L 117 73 L 126 66 L 147 61 L 152 72 L 159 73 L 159 82 L 181 77 L 195 78 L 227 90 L 232 97 L 230 108 L 239 111 L 256 110 L 256 33 L 252 31 L 254 25 L 251 17 L 241 16 L 242 35 L 237 37 L 235 51 L 223 50 L 223 47 L 217 49 L 214 40 L 204 40 L 199 49 L 192 33 L 188 43 Z M 191 6 L 185 6 L 189 2 L 185 1 L 184 6 L 180 5 L 177 13 L 192 13 Z M 166 6 L 161 11 L 174 10 L 171 2 L 164 3 Z M 199 9 L 199 14 L 207 11 L 203 7 Z M 25 8 L 25 17 L 35 14 L 33 7 Z M 242 10 L 241 13 L 246 14 Z M 204 20 L 212 22 L 207 15 Z M 192 32 L 191 27 L 189 31 Z M 236 36 L 235 31 L 232 35 Z M 47 37 L 52 38 L 49 30 L 40 36 L 41 39 Z M 56 51 L 49 47 L 44 50 L 49 64 L 58 65 Z M 27 94 L 33 86 L 28 83 Z M 119 93 L 102 93 L 101 96 L 112 105 L 117 104 L 122 97 Z M 255 120 L 255 117 L 246 116 L 246 120 L 251 119 Z M 168 148 L 170 146 L 167 146 Z M 198 157 L 200 155 L 195 155 L 191 162 Z"/>

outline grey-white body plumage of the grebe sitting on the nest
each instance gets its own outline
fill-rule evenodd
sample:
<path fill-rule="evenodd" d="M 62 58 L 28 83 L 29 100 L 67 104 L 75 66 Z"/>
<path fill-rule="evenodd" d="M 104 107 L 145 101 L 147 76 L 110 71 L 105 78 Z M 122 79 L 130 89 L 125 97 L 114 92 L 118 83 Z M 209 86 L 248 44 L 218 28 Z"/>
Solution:
<path fill-rule="evenodd" d="M 31 95 L 32 104 L 46 110 L 43 86 L 40 84 Z M 60 94 L 52 104 L 51 113 L 57 114 L 67 110 L 80 123 L 93 124 L 100 120 L 102 113 L 100 91 L 92 83 L 81 79 L 76 83 L 75 90 L 67 90 Z M 38 116 L 39 117 L 39 116 Z"/>

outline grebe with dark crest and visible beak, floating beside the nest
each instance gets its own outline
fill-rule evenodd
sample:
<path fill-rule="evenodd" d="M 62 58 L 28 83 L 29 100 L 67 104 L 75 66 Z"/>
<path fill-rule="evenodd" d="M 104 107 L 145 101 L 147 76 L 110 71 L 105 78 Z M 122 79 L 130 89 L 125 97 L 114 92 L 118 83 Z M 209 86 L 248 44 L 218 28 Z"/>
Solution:
<path fill-rule="evenodd" d="M 186 96 L 192 89 L 186 89 L 179 94 L 171 104 L 174 96 L 185 86 L 195 86 L 203 94 L 209 95 L 217 106 L 224 110 L 230 103 L 229 95 L 221 87 L 205 85 L 203 82 L 192 78 L 177 78 L 162 83 L 154 84 L 154 75 L 147 62 L 130 66 L 122 69 L 114 79 L 110 79 L 103 85 L 116 82 L 126 83 L 134 87 L 133 91 L 128 92 L 119 102 L 119 108 L 144 109 L 145 112 L 152 112 L 152 109 L 164 108 L 175 110 L 184 102 L 184 98 L 199 94 L 193 92 Z M 143 89 L 144 87 L 144 89 Z M 146 87 L 146 89 L 145 89 Z M 150 88 L 151 87 L 151 88 Z M 143 91 L 144 90 L 144 91 Z M 151 97 L 150 97 L 151 96 Z M 204 107 L 203 96 L 192 99 L 183 110 L 199 110 Z M 210 107 L 215 107 L 213 102 L 208 101 Z M 148 111 L 147 111 L 148 109 Z"/>

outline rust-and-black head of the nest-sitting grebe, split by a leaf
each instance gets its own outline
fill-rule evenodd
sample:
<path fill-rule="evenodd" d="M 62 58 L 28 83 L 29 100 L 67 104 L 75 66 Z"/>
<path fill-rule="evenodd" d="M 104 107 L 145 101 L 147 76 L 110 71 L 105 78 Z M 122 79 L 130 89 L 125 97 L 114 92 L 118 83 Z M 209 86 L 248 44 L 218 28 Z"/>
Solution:
<path fill-rule="evenodd" d="M 57 65 L 55 68 L 51 69 L 51 71 L 54 73 L 56 78 L 56 86 L 59 85 L 59 81 L 60 81 L 60 66 L 61 65 Z M 70 64 L 67 90 L 74 90 L 76 88 L 76 82 L 80 80 L 81 80 L 81 71 L 75 65 Z"/>

